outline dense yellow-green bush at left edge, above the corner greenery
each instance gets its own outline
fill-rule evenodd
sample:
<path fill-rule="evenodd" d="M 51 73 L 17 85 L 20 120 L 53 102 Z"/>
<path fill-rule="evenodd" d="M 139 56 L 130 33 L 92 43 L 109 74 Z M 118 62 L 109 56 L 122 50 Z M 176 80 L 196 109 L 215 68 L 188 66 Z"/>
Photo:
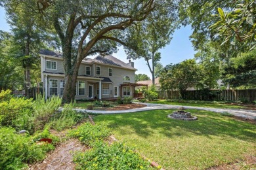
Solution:
<path fill-rule="evenodd" d="M 32 114 L 32 99 L 11 98 L 9 101 L 0 103 L 1 126 L 30 130 L 32 128 L 30 126 Z"/>

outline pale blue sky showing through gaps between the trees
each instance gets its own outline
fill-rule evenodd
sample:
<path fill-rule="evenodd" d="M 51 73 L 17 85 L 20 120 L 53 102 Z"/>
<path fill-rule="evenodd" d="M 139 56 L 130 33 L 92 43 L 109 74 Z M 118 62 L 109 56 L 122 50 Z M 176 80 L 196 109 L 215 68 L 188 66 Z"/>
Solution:
<path fill-rule="evenodd" d="M 7 24 L 5 19 L 5 10 L 0 7 L 0 30 L 9 31 L 10 27 Z M 177 29 L 173 34 L 173 39 L 170 44 L 165 46 L 160 50 L 161 52 L 161 60 L 160 62 L 163 66 L 169 63 L 179 63 L 184 61 L 185 59 L 194 58 L 194 48 L 192 47 L 192 43 L 189 40 L 189 36 L 192 34 L 191 27 L 188 25 L 186 27 L 181 27 Z M 124 62 L 127 61 L 127 56 L 123 50 L 123 48 L 119 48 L 118 52 L 113 54 L 118 59 L 121 59 Z M 137 59 L 135 61 L 135 68 L 138 69 L 136 74 L 142 73 L 148 75 L 152 78 L 151 73 L 148 69 L 148 65 L 146 65 L 146 61 L 144 59 Z"/>

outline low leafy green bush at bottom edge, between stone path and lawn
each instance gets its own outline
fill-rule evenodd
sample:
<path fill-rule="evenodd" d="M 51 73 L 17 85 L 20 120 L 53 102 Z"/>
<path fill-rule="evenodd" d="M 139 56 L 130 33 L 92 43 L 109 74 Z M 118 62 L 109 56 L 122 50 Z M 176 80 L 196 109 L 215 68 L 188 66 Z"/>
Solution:
<path fill-rule="evenodd" d="M 153 169 L 149 161 L 123 143 L 96 143 L 87 152 L 77 152 L 73 159 L 76 169 Z"/>

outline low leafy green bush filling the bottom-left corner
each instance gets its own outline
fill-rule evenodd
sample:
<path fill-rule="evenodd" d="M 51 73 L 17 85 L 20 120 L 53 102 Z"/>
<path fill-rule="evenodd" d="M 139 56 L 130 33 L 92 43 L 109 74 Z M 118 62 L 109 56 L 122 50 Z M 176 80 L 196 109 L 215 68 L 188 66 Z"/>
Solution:
<path fill-rule="evenodd" d="M 30 137 L 18 135 L 10 127 L 0 129 L 0 167 L 1 169 L 22 169 L 25 163 L 43 160 L 53 144 L 36 144 Z"/>

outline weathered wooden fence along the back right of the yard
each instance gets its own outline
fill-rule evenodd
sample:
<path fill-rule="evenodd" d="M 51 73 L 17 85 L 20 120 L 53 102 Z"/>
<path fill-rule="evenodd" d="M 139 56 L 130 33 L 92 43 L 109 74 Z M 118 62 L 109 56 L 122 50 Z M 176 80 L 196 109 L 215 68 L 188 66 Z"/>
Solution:
<path fill-rule="evenodd" d="M 159 99 L 181 99 L 179 91 L 158 91 Z M 184 92 L 183 99 L 205 101 L 256 101 L 256 89 L 247 90 L 190 90 Z"/>

